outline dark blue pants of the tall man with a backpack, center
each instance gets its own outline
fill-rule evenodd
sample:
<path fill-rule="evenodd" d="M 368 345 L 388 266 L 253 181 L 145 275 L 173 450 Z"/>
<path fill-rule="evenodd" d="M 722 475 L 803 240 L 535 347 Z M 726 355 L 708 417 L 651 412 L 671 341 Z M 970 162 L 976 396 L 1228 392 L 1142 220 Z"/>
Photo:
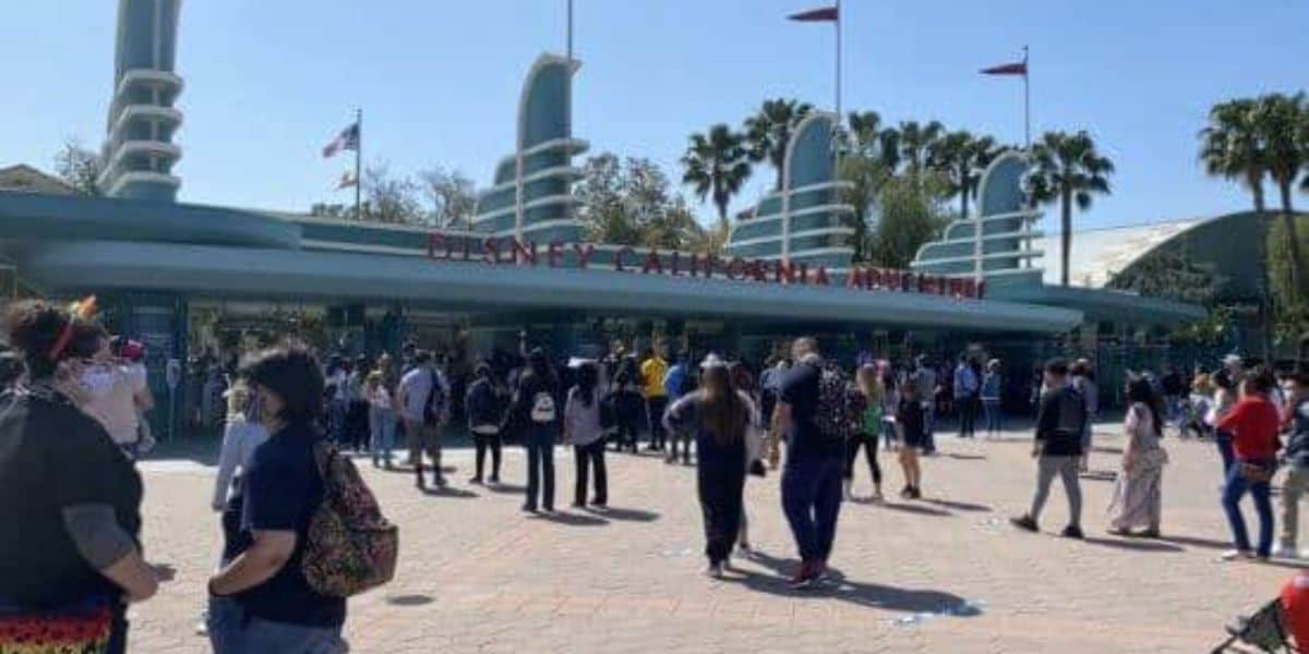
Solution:
<path fill-rule="evenodd" d="M 787 460 L 781 472 L 781 510 L 804 561 L 826 561 L 840 515 L 840 454 Z"/>

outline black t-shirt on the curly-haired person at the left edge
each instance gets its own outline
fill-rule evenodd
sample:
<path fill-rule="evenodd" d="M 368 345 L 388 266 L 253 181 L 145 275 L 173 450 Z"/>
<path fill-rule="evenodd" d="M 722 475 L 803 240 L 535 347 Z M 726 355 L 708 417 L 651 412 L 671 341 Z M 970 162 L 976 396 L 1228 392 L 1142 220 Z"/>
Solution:
<path fill-rule="evenodd" d="M 0 600 L 55 608 L 122 593 L 64 528 L 65 508 L 90 504 L 139 536 L 141 477 L 99 422 L 48 390 L 0 396 Z"/>

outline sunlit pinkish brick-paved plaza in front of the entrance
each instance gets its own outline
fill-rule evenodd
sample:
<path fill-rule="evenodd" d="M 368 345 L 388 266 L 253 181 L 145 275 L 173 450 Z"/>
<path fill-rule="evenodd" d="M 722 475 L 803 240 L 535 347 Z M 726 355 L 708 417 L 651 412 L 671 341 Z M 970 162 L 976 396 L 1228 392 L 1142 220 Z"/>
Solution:
<path fill-rule="evenodd" d="M 759 556 L 712 581 L 700 574 L 691 468 L 610 453 L 610 511 L 528 518 L 516 447 L 500 489 L 466 483 L 469 449 L 448 455 L 458 470 L 440 494 L 419 493 L 410 473 L 364 464 L 401 526 L 401 564 L 394 582 L 351 600 L 346 633 L 363 653 L 1208 651 L 1223 625 L 1270 599 L 1295 565 L 1216 562 L 1228 544 L 1210 442 L 1165 441 L 1164 540 L 1106 535 L 1107 471 L 1121 446 L 1118 429 L 1101 425 L 1092 466 L 1101 472 L 1083 484 L 1089 538 L 1079 543 L 1052 535 L 1067 515 L 1058 484 L 1045 534 L 1007 522 L 1031 497 L 1025 433 L 944 439 L 941 455 L 924 460 L 922 501 L 844 505 L 838 579 L 816 591 L 784 583 L 797 561 L 776 473 L 746 485 Z M 572 454 L 555 456 L 556 505 L 567 508 Z M 901 473 L 888 453 L 882 463 L 894 494 Z M 208 651 L 194 625 L 219 551 L 207 509 L 213 470 L 203 456 L 143 468 L 147 549 L 178 576 L 134 608 L 131 650 Z M 856 475 L 856 494 L 867 494 L 867 468 Z"/>

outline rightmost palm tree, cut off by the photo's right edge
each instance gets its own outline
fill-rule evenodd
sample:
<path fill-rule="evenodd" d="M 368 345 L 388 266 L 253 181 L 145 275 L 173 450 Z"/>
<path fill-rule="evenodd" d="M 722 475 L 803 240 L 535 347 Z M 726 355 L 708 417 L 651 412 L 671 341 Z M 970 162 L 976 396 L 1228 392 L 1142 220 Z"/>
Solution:
<path fill-rule="evenodd" d="M 1309 280 L 1305 279 L 1305 262 L 1300 258 L 1300 238 L 1291 207 L 1291 188 L 1300 178 L 1300 171 L 1309 165 L 1309 152 L 1297 137 L 1304 129 L 1305 116 L 1309 116 L 1309 102 L 1304 93 L 1295 95 L 1270 93 L 1257 101 L 1251 114 L 1263 164 L 1282 195 L 1282 225 L 1287 232 L 1291 288 L 1300 297 L 1305 297 L 1309 296 L 1309 286 L 1305 285 Z"/>

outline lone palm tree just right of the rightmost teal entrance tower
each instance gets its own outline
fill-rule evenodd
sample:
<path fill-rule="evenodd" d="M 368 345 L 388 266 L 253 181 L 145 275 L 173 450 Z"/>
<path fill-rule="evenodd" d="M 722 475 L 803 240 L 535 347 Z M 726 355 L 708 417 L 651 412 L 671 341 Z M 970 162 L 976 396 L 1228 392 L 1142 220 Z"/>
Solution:
<path fill-rule="evenodd" d="M 1109 195 L 1109 175 L 1114 164 L 1096 149 L 1096 141 L 1085 131 L 1069 135 L 1046 132 L 1031 148 L 1034 170 L 1028 179 L 1028 196 L 1034 203 L 1059 201 L 1062 209 L 1060 249 L 1063 269 L 1060 283 L 1068 285 L 1068 263 L 1072 254 L 1072 205 L 1090 208 L 1092 194 Z"/>

